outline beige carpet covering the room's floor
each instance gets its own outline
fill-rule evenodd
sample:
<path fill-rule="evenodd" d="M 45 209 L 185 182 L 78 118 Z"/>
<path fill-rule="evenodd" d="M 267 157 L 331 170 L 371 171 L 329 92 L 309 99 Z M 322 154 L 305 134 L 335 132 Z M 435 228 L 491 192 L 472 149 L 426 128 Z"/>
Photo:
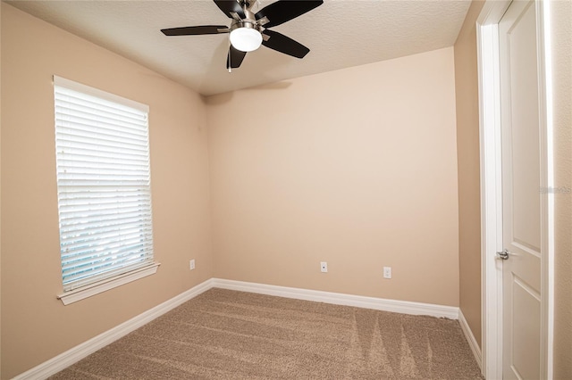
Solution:
<path fill-rule="evenodd" d="M 481 379 L 458 321 L 211 289 L 54 379 Z"/>

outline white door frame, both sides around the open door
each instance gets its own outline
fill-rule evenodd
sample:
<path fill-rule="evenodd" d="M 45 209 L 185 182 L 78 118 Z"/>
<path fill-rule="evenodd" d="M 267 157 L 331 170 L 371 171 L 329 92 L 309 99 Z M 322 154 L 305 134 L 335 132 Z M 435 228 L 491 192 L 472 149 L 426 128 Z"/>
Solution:
<path fill-rule="evenodd" d="M 485 378 L 502 378 L 502 251 L 501 86 L 498 24 L 509 0 L 487 0 L 476 21 L 479 139 L 481 170 L 481 327 L 482 371 Z M 534 2 L 539 70 L 541 127 L 541 374 L 552 378 L 554 319 L 553 162 L 551 140 L 550 1 Z M 539 189 L 539 192 L 541 189 Z"/>

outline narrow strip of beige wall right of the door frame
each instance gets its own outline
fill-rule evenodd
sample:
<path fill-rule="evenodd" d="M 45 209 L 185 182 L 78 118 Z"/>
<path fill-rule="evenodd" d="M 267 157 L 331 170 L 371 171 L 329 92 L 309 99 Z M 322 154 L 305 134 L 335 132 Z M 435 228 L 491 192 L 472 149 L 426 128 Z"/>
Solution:
<path fill-rule="evenodd" d="M 555 186 L 572 188 L 572 2 L 551 2 Z M 572 194 L 555 194 L 554 378 L 572 378 Z"/>

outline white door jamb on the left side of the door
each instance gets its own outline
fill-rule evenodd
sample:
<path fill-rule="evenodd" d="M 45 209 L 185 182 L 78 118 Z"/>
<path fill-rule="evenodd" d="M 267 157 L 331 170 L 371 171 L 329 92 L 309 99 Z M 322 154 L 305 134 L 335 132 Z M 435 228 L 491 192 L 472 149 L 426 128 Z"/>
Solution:
<path fill-rule="evenodd" d="M 510 1 L 488 1 L 476 21 L 481 157 L 481 330 L 485 378 L 502 378 L 501 110 L 498 24 Z"/>

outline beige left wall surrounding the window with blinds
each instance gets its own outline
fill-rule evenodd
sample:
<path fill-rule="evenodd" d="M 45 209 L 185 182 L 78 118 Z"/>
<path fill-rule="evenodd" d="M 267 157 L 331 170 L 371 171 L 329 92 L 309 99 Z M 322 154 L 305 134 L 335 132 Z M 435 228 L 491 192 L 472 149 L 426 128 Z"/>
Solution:
<path fill-rule="evenodd" d="M 150 105 L 156 275 L 63 306 L 52 75 Z M 2 4 L 2 378 L 213 277 L 201 98 Z M 189 259 L 197 269 L 189 271 Z"/>

